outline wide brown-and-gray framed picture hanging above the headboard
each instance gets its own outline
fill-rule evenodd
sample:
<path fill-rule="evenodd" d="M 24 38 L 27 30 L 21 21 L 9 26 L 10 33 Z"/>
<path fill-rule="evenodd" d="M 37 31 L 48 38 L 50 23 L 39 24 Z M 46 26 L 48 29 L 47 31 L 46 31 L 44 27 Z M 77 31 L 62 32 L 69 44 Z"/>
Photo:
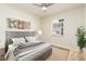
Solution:
<path fill-rule="evenodd" d="M 14 29 L 30 28 L 30 22 L 22 21 L 22 20 L 13 20 L 13 18 L 7 18 L 7 20 L 8 20 L 8 28 L 14 28 Z"/>

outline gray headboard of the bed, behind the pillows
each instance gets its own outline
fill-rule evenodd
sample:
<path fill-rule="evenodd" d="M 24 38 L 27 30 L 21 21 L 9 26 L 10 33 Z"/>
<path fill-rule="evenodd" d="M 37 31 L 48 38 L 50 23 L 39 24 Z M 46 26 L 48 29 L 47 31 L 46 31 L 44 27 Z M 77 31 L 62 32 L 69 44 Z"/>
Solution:
<path fill-rule="evenodd" d="M 11 38 L 35 36 L 36 31 L 5 31 L 5 51 L 8 46 L 12 43 Z"/>

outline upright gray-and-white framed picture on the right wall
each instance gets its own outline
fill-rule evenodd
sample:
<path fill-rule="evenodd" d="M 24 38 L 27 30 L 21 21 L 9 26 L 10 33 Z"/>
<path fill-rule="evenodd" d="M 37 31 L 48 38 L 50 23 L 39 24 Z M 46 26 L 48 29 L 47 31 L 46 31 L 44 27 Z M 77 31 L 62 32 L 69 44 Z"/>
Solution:
<path fill-rule="evenodd" d="M 63 36 L 63 18 L 52 22 L 52 36 Z"/>

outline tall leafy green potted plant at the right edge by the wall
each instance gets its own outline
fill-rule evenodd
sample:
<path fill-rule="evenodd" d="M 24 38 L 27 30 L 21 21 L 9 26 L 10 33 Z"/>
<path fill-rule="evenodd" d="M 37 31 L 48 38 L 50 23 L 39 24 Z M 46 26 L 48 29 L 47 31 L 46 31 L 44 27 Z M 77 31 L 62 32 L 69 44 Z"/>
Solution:
<path fill-rule="evenodd" d="M 77 37 L 77 46 L 79 47 L 79 52 L 83 52 L 83 48 L 86 46 L 86 30 L 83 26 L 77 28 L 76 37 Z"/>

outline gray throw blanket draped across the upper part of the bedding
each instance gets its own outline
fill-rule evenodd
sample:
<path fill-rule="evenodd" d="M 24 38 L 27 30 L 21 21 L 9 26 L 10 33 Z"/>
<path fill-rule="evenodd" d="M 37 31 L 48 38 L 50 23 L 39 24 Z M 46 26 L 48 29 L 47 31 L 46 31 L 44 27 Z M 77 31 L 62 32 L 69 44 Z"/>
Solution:
<path fill-rule="evenodd" d="M 38 44 L 42 44 L 42 43 L 44 42 L 28 42 L 26 44 L 21 43 L 14 49 L 13 54 L 15 56 L 24 51 L 35 49 L 35 48 L 37 48 Z"/>

